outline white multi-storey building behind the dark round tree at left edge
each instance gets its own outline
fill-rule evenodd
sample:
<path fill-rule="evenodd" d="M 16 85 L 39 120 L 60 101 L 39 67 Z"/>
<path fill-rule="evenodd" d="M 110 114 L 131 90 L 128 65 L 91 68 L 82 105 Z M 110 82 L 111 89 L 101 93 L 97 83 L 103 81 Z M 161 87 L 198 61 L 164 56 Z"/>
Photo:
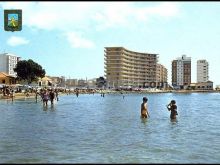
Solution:
<path fill-rule="evenodd" d="M 9 76 L 16 77 L 16 72 L 14 72 L 14 68 L 16 67 L 19 60 L 20 57 L 11 53 L 0 54 L 0 72 L 4 72 Z"/>

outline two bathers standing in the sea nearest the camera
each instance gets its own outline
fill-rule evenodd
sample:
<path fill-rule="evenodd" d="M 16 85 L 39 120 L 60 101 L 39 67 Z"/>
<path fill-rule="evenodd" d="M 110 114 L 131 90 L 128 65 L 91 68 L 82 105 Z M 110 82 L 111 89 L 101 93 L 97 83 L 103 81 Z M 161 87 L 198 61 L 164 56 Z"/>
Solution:
<path fill-rule="evenodd" d="M 149 118 L 149 112 L 147 109 L 147 97 L 143 97 L 143 103 L 141 104 L 141 118 Z M 176 106 L 176 101 L 171 100 L 171 102 L 167 105 L 168 111 L 170 111 L 170 119 L 175 120 L 177 113 L 177 106 Z"/>

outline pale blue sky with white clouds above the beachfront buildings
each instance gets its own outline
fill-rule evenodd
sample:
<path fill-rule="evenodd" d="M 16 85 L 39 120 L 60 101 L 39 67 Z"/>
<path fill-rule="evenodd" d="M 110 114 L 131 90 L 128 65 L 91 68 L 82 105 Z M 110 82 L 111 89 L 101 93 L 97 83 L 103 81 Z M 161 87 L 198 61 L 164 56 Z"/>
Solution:
<path fill-rule="evenodd" d="M 22 9 L 22 31 L 4 31 L 4 10 Z M 48 76 L 104 76 L 104 47 L 158 54 L 171 83 L 172 60 L 209 62 L 220 85 L 220 2 L 0 2 L 0 53 L 32 59 Z"/>

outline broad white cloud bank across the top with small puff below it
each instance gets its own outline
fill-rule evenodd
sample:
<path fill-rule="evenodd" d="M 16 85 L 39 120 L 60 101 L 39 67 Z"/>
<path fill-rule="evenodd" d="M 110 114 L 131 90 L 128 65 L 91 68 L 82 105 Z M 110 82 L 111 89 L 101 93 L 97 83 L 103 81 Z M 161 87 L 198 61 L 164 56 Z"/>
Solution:
<path fill-rule="evenodd" d="M 162 18 L 178 14 L 176 2 L 2 2 L 3 9 L 22 9 L 22 24 L 32 29 L 83 31 L 84 34 L 107 28 L 143 26 L 155 16 Z M 152 6 L 153 5 L 153 6 Z M 69 33 L 73 47 L 92 47 L 94 43 Z M 76 43 L 80 42 L 80 43 Z M 84 43 L 83 43 L 84 42 Z"/>

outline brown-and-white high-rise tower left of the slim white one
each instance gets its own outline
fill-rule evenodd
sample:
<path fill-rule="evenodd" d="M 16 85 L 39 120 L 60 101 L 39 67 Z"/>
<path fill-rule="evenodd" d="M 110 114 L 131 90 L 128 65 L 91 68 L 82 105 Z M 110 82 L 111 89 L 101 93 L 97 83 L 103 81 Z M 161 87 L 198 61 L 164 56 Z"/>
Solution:
<path fill-rule="evenodd" d="M 187 89 L 191 84 L 191 57 L 177 58 L 172 61 L 172 86 L 174 89 Z"/>

